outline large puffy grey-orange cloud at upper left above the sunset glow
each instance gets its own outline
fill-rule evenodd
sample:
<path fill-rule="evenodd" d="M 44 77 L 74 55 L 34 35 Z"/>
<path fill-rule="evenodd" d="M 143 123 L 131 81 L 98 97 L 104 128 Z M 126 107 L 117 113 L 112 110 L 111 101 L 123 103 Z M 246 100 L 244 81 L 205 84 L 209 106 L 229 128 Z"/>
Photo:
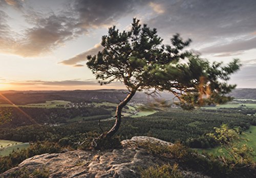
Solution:
<path fill-rule="evenodd" d="M 0 52 L 36 57 L 50 53 L 82 33 L 81 29 L 75 27 L 76 20 L 73 17 L 53 12 L 48 16 L 34 12 L 25 16 L 28 23 L 34 27 L 27 28 L 23 34 L 16 34 L 7 25 L 6 19 L 10 17 L 4 11 L 0 11 Z"/>

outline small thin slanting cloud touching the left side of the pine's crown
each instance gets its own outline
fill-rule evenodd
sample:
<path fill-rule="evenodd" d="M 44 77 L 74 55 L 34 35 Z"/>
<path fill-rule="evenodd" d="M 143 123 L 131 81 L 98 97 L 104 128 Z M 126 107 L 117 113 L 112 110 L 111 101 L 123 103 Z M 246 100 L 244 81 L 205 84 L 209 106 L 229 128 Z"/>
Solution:
<path fill-rule="evenodd" d="M 78 54 L 70 59 L 63 60 L 59 63 L 74 66 L 74 65 L 77 65 L 78 62 L 86 61 L 88 55 L 95 55 L 102 49 L 103 47 L 101 46 L 101 44 L 96 44 L 93 48 L 89 49 L 88 51 Z"/>

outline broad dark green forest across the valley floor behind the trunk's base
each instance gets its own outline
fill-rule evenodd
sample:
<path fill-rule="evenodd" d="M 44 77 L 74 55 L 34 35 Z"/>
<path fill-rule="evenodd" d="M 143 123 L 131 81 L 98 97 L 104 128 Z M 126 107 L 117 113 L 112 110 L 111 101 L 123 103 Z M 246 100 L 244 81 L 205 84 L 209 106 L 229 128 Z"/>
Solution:
<path fill-rule="evenodd" d="M 157 112 L 153 115 L 140 118 L 124 118 L 117 135 L 121 140 L 131 139 L 133 136 L 150 136 L 164 141 L 172 142 L 180 140 L 183 144 L 195 148 L 207 148 L 216 146 L 214 139 L 209 139 L 205 134 L 214 131 L 214 127 L 220 127 L 228 123 L 230 128 L 240 126 L 248 129 L 253 117 L 246 116 L 236 111 L 232 113 L 215 112 L 211 110 L 185 111 L 182 109 L 170 109 L 169 112 Z M 103 130 L 108 130 L 114 120 L 101 121 Z M 0 130 L 0 139 L 19 142 L 50 141 L 58 142 L 67 138 L 68 145 L 76 148 L 74 142 L 83 142 L 84 138 L 96 138 L 100 133 L 98 121 L 86 121 L 81 123 L 69 123 L 59 126 L 31 125 L 17 128 L 3 128 Z M 67 141 L 66 140 L 66 141 Z"/>

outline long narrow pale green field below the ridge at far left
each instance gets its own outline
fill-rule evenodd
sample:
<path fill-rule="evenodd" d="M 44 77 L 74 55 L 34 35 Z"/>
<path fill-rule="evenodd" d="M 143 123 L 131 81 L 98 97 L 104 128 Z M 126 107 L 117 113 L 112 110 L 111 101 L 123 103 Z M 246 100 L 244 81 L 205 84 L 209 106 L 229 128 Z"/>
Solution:
<path fill-rule="evenodd" d="M 42 108 L 53 108 L 53 107 L 64 107 L 64 106 L 57 106 L 57 105 L 65 105 L 70 103 L 70 101 L 63 101 L 63 100 L 53 100 L 53 101 L 46 101 L 45 103 L 34 103 L 34 104 L 27 104 L 27 105 L 14 105 L 14 104 L 0 104 L 0 107 L 42 107 Z"/>

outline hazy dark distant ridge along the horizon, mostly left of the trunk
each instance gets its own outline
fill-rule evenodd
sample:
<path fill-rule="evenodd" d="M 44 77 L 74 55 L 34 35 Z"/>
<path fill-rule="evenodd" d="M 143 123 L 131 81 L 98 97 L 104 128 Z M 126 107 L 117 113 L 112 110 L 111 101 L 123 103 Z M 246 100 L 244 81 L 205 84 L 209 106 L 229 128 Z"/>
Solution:
<path fill-rule="evenodd" d="M 10 104 L 8 100 L 17 105 L 31 103 L 43 103 L 47 100 L 66 100 L 71 102 L 82 101 L 108 101 L 116 102 L 123 100 L 127 94 L 124 90 L 75 90 L 75 91 L 2 91 L 0 104 Z M 7 100 L 7 99 L 8 100 Z M 162 98 L 173 99 L 174 96 L 169 93 L 162 93 Z M 151 97 L 143 92 L 137 92 L 133 101 L 146 102 Z"/>

